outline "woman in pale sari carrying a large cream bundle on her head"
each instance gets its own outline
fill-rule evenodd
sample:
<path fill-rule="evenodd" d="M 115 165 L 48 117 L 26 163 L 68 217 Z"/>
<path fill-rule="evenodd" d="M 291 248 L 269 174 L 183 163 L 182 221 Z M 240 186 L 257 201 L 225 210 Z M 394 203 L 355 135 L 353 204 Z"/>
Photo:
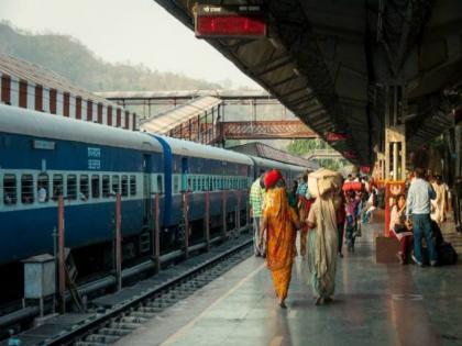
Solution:
<path fill-rule="evenodd" d="M 336 270 L 338 254 L 338 228 L 336 202 L 342 186 L 341 176 L 328 169 L 319 169 L 308 177 L 308 187 L 316 201 L 311 205 L 307 223 L 308 268 L 311 287 L 316 294 L 316 305 L 332 301 L 336 289 Z"/>

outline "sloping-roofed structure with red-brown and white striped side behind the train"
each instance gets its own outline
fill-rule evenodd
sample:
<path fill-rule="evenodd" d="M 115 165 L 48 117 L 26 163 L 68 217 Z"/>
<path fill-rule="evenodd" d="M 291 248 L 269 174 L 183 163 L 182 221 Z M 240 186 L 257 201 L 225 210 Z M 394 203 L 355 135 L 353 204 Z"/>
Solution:
<path fill-rule="evenodd" d="M 0 101 L 109 126 L 138 129 L 135 113 L 48 69 L 7 55 L 0 55 Z"/>

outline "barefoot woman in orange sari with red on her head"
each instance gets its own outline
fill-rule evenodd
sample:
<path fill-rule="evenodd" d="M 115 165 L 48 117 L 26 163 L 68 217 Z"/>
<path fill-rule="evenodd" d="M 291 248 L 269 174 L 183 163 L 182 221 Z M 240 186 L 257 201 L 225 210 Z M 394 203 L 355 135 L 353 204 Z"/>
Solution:
<path fill-rule="evenodd" d="M 289 207 L 282 174 L 274 169 L 265 176 L 266 205 L 263 211 L 260 244 L 266 235 L 266 264 L 280 308 L 285 300 L 292 278 L 295 257 L 296 232 L 300 227 L 296 211 Z"/>

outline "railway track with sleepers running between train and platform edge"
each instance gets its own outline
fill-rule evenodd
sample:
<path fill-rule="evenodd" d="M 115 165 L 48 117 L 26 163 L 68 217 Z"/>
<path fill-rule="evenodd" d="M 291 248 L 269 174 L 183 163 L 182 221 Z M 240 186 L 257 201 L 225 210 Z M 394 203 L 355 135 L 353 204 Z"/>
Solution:
<path fill-rule="evenodd" d="M 118 342 L 252 256 L 250 236 L 228 241 L 158 275 L 103 295 L 86 313 L 53 317 L 6 341 L 18 345 L 101 346 Z"/>

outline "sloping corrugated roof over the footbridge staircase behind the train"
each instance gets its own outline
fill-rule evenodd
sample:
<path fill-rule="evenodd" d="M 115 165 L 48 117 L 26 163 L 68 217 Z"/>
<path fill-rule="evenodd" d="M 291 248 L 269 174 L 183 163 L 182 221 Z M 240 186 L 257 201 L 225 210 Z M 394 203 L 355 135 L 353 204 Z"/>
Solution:
<path fill-rule="evenodd" d="M 152 133 L 166 134 L 185 121 L 204 114 L 206 111 L 213 109 L 221 102 L 222 101 L 220 99 L 213 97 L 206 96 L 197 98 L 178 105 L 170 111 L 166 111 L 160 115 L 155 115 L 143 121 L 140 127 Z"/>

